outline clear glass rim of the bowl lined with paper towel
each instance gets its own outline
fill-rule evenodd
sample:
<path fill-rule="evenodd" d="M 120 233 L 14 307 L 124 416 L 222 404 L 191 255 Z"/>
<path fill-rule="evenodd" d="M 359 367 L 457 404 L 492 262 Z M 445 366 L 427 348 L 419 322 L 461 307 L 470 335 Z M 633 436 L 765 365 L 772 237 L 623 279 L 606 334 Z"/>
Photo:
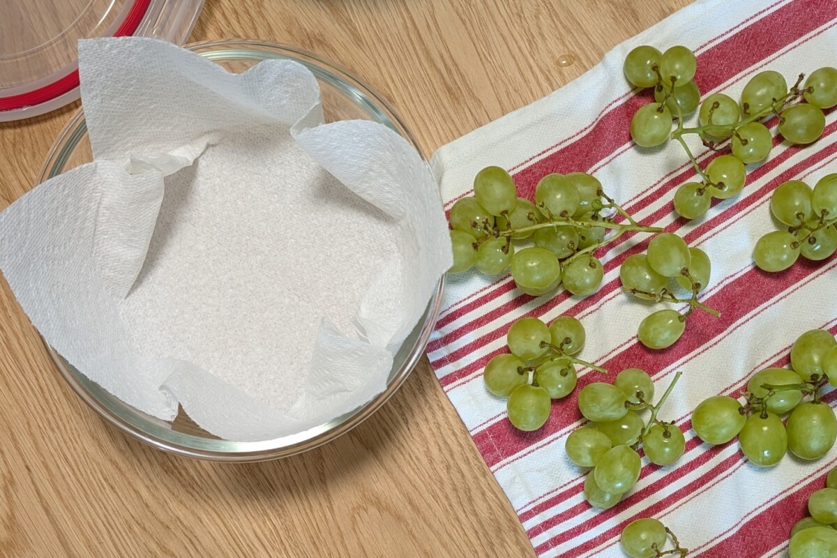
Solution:
<path fill-rule="evenodd" d="M 285 44 L 269 43 L 255 39 L 236 38 L 201 41 L 197 43 L 187 44 L 184 46 L 184 48 L 196 51 L 198 52 L 198 54 L 223 52 L 224 50 L 234 51 L 234 49 L 241 49 L 244 51 L 249 50 L 267 52 L 275 54 L 275 58 L 301 58 L 310 61 L 312 64 L 315 64 L 316 66 L 320 66 L 321 69 L 326 70 L 330 74 L 334 74 L 338 79 L 344 80 L 354 89 L 359 90 L 362 93 L 362 95 L 365 95 L 369 100 L 372 100 L 373 103 L 377 103 L 377 105 L 380 105 L 380 107 L 383 108 L 383 116 L 387 120 L 393 120 L 393 123 L 398 126 L 398 129 L 395 129 L 395 131 L 397 131 L 400 136 L 403 136 L 405 140 L 409 141 L 410 144 L 412 144 L 413 147 L 415 147 L 415 149 L 419 151 L 419 156 L 422 157 L 425 166 L 427 166 L 431 174 L 433 174 L 432 167 L 429 165 L 427 158 L 424 156 L 424 153 L 422 152 L 418 142 L 415 140 L 413 133 L 409 130 L 408 126 L 404 124 L 401 117 L 388 103 L 388 101 L 384 100 L 365 82 L 363 82 L 361 79 L 358 79 L 354 74 L 352 74 L 347 69 L 342 68 L 340 65 L 334 64 L 331 61 L 323 59 L 321 58 L 321 56 L 310 53 L 304 49 L 299 49 Z M 208 58 L 212 59 L 211 56 L 209 56 Z M 230 58 L 233 58 L 233 56 L 230 56 Z M 240 58 L 240 56 L 238 58 Z M 305 64 L 305 60 L 298 61 Z M 306 66 L 307 65 L 308 64 L 306 64 Z M 374 105 L 372 104 L 367 104 L 366 108 L 369 110 L 375 110 L 376 112 L 382 112 L 380 109 L 377 109 L 377 107 L 374 107 Z M 390 125 L 390 127 L 392 127 L 392 125 Z M 39 173 L 37 182 L 38 184 L 44 182 L 49 177 L 54 176 L 51 173 L 51 171 L 53 171 L 56 167 L 63 168 L 63 166 L 66 163 L 66 159 L 69 156 L 69 153 L 64 152 L 67 151 L 67 146 L 77 145 L 78 141 L 80 141 L 80 139 L 86 134 L 86 130 L 87 126 L 84 121 L 84 110 L 80 107 L 70 118 L 69 122 L 66 125 L 64 125 L 64 128 L 59 132 L 59 136 L 56 138 L 54 145 L 50 148 L 49 154 L 47 155 L 46 161 L 44 162 L 44 166 L 42 167 Z M 69 152 L 72 152 L 72 150 L 70 150 Z M 223 441 L 229 442 L 230 444 L 237 444 L 239 446 L 247 446 L 248 444 L 270 443 L 276 440 L 282 440 L 284 438 L 301 438 L 299 441 L 289 443 L 285 446 L 274 446 L 270 448 L 256 449 L 252 451 L 237 451 L 234 449 L 225 451 L 194 448 L 192 446 L 184 445 L 182 443 L 176 443 L 170 440 L 158 438 L 157 436 L 148 433 L 145 430 L 142 430 L 141 427 L 137 427 L 136 425 L 131 424 L 131 422 L 126 420 L 125 417 L 121 417 L 110 407 L 107 407 L 107 405 L 104 402 L 102 402 L 99 398 L 95 397 L 95 395 L 91 393 L 87 387 L 85 387 L 83 380 L 79 376 L 81 373 L 79 372 L 77 375 L 77 373 L 74 372 L 72 366 L 69 366 L 69 364 L 66 361 L 64 361 L 64 358 L 60 356 L 59 353 L 55 351 L 52 346 L 49 345 L 49 343 L 44 339 L 43 336 L 41 336 L 41 340 L 44 342 L 44 346 L 46 347 L 49 356 L 52 358 L 55 365 L 58 367 L 59 373 L 61 374 L 61 376 L 64 377 L 64 380 L 67 381 L 69 387 L 76 393 L 76 395 L 78 395 L 81 398 L 81 400 L 84 401 L 88 407 L 93 409 L 100 417 L 104 418 L 105 422 L 108 422 L 111 426 L 116 427 L 122 433 L 126 433 L 131 438 L 135 438 L 136 440 L 139 440 L 142 443 L 146 443 L 147 445 L 150 445 L 153 448 L 162 450 L 163 452 L 174 453 L 188 458 L 226 463 L 254 463 L 260 461 L 269 461 L 277 458 L 290 457 L 291 455 L 306 452 L 308 450 L 317 448 L 325 443 L 331 442 L 332 440 L 339 438 L 341 435 L 349 432 L 350 430 L 352 430 L 352 428 L 357 427 L 368 417 L 371 417 L 372 414 L 376 412 L 379 408 L 383 407 L 383 405 L 389 400 L 389 398 L 392 397 L 393 394 L 398 391 L 398 388 L 400 388 L 403 385 L 403 382 L 407 380 L 410 373 L 419 363 L 419 360 L 422 358 L 422 356 L 424 356 L 424 351 L 427 347 L 430 334 L 434 330 L 436 320 L 438 320 L 439 318 L 439 311 L 441 310 L 442 303 L 442 294 L 444 292 L 444 279 L 445 276 L 443 274 L 442 277 L 439 278 L 437 288 L 434 290 L 434 293 L 429 299 L 427 310 L 425 310 L 423 315 L 423 317 L 426 317 L 426 319 L 424 320 L 424 324 L 421 326 L 421 329 L 419 330 L 419 335 L 414 340 L 413 346 L 409 348 L 408 355 L 406 356 L 403 365 L 400 366 L 397 371 L 394 371 L 394 373 L 391 372 L 390 377 L 388 379 L 387 387 L 384 389 L 383 392 L 379 393 L 376 397 L 373 397 L 372 400 L 362 405 L 362 407 L 357 407 L 357 409 L 355 409 L 352 412 L 348 412 L 342 415 L 341 417 L 336 417 L 335 419 L 332 419 L 329 422 L 326 422 L 316 427 L 312 427 L 306 431 L 303 431 L 302 433 L 298 433 L 293 436 L 274 438 L 273 440 L 266 440 L 264 442 L 257 443 Z M 418 325 L 421 325 L 421 322 L 417 324 L 417 327 Z M 413 328 L 413 333 L 415 331 L 416 328 Z M 404 347 L 402 346 L 401 351 L 403 351 L 403 349 Z M 91 384 L 95 384 L 95 382 L 92 382 L 89 379 L 87 379 L 86 376 L 84 381 L 90 382 Z M 133 408 L 125 402 L 121 403 L 126 407 Z M 141 417 L 143 413 L 134 409 L 134 414 L 136 415 L 136 417 Z M 147 419 L 141 418 L 141 420 L 146 422 L 151 422 L 151 420 L 157 421 L 157 419 L 153 417 L 148 417 Z M 336 423 L 331 424 L 332 422 Z M 306 436 L 306 434 L 309 433 L 310 435 Z M 178 434 L 182 435 L 182 437 L 184 438 L 204 439 L 192 436 L 187 433 Z"/>

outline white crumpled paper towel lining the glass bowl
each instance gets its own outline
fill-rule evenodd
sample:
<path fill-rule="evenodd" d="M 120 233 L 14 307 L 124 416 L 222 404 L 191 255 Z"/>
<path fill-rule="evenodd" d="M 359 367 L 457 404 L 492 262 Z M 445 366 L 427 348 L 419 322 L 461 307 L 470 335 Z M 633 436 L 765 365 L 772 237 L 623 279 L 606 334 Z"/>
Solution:
<path fill-rule="evenodd" d="M 451 264 L 401 136 L 323 123 L 316 79 L 229 74 L 146 38 L 80 42 L 94 162 L 0 213 L 0 269 L 45 339 L 154 417 L 238 441 L 369 401 Z"/>

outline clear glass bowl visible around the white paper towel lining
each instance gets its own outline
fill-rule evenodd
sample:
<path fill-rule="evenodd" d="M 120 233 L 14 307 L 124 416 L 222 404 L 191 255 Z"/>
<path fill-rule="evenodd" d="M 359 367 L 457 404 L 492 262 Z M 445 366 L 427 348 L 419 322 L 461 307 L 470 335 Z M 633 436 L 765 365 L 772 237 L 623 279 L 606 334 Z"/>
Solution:
<path fill-rule="evenodd" d="M 316 76 L 321 88 L 326 121 L 373 120 L 389 126 L 419 150 L 407 127 L 386 101 L 345 69 L 314 54 L 277 44 L 244 40 L 205 42 L 192 44 L 187 48 L 221 64 L 231 72 L 242 72 L 266 59 L 295 60 L 304 64 Z M 39 182 L 91 160 L 85 117 L 79 110 L 64 127 L 64 131 L 49 152 Z M 52 347 L 48 345 L 47 348 L 61 375 L 74 392 L 107 422 L 141 442 L 191 458 L 226 462 L 266 461 L 304 452 L 329 442 L 356 427 L 381 407 L 403 384 L 423 355 L 439 315 L 443 288 L 444 278 L 439 279 L 438 289 L 430 299 L 424 315 L 395 355 L 387 388 L 382 393 L 366 405 L 318 427 L 293 436 L 262 442 L 234 442 L 217 438 L 198 427 L 182 409 L 172 421 L 151 417 L 106 392 L 70 366 Z"/>

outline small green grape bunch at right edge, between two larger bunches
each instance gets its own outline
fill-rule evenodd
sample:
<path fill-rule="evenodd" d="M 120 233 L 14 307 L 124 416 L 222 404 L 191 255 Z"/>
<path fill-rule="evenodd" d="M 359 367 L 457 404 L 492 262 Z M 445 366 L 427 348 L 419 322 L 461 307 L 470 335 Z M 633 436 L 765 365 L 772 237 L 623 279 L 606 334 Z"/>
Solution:
<path fill-rule="evenodd" d="M 770 197 L 770 212 L 787 228 L 759 238 L 752 259 L 764 271 L 783 271 L 800 255 L 819 261 L 837 251 L 837 173 L 814 188 L 801 180 L 783 182 Z"/>

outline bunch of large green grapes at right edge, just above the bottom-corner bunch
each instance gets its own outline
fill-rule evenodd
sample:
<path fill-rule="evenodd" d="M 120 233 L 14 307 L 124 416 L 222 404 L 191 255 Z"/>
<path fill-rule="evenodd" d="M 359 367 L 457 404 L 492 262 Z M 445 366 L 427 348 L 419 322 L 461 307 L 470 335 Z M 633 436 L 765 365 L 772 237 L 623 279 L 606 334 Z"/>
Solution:
<path fill-rule="evenodd" d="M 825 330 L 806 331 L 793 343 L 790 362 L 791 368 L 754 374 L 743 405 L 729 396 L 701 402 L 691 419 L 698 438 L 721 444 L 737 436 L 742 453 L 761 467 L 777 464 L 788 450 L 805 460 L 828 453 L 837 439 L 837 418 L 819 401 L 819 388 L 837 377 L 837 340 Z M 788 413 L 785 424 L 781 417 Z"/>

